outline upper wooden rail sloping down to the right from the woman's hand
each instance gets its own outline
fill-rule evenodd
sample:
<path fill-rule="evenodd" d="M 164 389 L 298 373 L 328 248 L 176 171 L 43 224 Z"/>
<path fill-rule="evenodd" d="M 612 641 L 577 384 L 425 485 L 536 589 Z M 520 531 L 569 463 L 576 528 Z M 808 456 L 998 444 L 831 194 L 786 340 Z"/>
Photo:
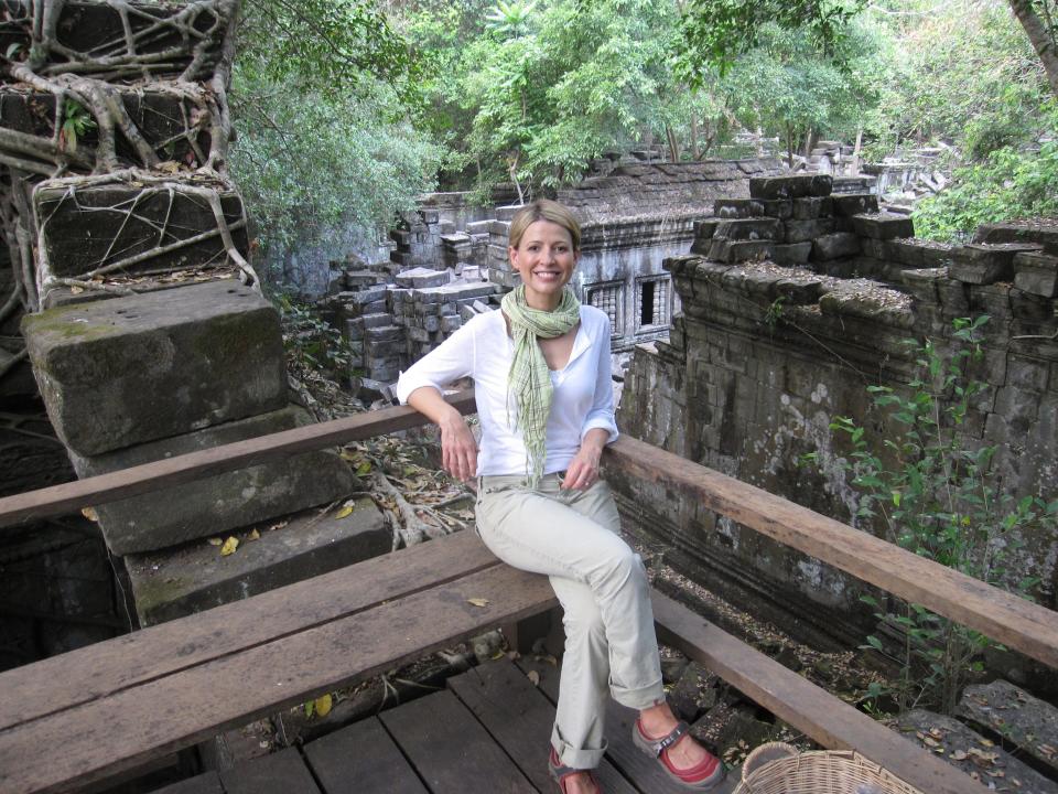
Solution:
<path fill-rule="evenodd" d="M 627 436 L 606 461 L 1058 668 L 1058 612 Z"/>

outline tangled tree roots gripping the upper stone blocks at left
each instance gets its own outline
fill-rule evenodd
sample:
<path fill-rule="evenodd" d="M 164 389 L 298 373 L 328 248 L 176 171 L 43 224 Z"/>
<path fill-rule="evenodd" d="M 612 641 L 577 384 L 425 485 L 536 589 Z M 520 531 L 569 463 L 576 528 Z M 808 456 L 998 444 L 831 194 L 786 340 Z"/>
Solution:
<path fill-rule="evenodd" d="M 109 15 L 104 26 L 120 33 L 89 44 L 71 41 L 61 24 L 64 11 L 86 10 L 97 19 Z M 225 264 L 237 268 L 245 282 L 256 282 L 231 234 L 246 226 L 246 217 L 227 219 L 219 198 L 234 191 L 227 174 L 231 137 L 227 89 L 237 12 L 238 0 L 180 6 L 127 0 L 94 6 L 68 0 L 0 2 L 0 34 L 14 40 L 7 47 L 2 72 L 9 85 L 23 93 L 39 122 L 37 133 L 0 128 L 0 222 L 15 275 L 0 320 L 19 304 L 39 310 L 47 290 L 60 286 L 133 292 L 106 280 L 210 237 L 220 238 Z M 79 26 L 84 25 L 82 20 Z M 176 108 L 176 117 L 166 117 L 176 131 L 152 141 L 159 136 L 143 129 L 134 108 L 147 118 L 158 112 L 159 103 Z M 54 276 L 43 261 L 42 245 L 54 210 L 65 201 L 76 203 L 82 191 L 107 184 L 144 190 L 112 207 L 78 205 L 125 217 L 93 268 L 78 278 Z M 37 221 L 34 233 L 33 196 L 43 189 L 58 189 L 63 198 L 51 215 Z M 142 196 L 158 193 L 169 201 L 161 224 L 138 213 Z M 177 197 L 208 206 L 216 228 L 190 235 L 174 228 L 169 218 Z M 153 246 L 120 256 L 119 238 L 131 221 L 154 227 Z"/>

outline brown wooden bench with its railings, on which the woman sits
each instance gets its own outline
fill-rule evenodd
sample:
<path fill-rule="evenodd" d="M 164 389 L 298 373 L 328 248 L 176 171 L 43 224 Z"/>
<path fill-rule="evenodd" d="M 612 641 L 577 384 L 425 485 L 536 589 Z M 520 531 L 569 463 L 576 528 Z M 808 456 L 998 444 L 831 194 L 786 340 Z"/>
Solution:
<path fill-rule="evenodd" d="M 453 401 L 473 410 L 472 397 Z M 387 409 L 8 497 L 0 526 L 422 421 Z M 633 439 L 606 461 L 1058 666 L 1058 616 L 1046 609 Z M 0 674 L 0 791 L 105 780 L 554 604 L 544 578 L 508 568 L 461 533 Z M 654 593 L 654 604 L 665 642 L 823 747 L 856 749 L 929 794 L 980 791 L 665 596 Z"/>

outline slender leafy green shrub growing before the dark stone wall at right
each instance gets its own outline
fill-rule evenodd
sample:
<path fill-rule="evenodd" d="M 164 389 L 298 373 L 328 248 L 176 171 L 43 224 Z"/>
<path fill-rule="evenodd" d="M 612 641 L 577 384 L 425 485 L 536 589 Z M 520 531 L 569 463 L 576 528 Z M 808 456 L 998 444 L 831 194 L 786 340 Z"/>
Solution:
<path fill-rule="evenodd" d="M 907 390 L 868 388 L 893 428 L 881 448 L 870 444 L 864 427 L 848 417 L 835 418 L 831 430 L 851 444 L 840 463 L 859 491 L 859 518 L 879 525 L 887 539 L 916 555 L 1024 594 L 1036 582 L 1012 582 L 1007 561 L 1026 529 L 1058 523 L 1058 501 L 1015 500 L 1002 492 L 991 468 L 996 448 L 973 444 L 960 432 L 975 397 L 986 388 L 970 376 L 983 357 L 986 322 L 985 316 L 957 320 L 954 348 L 948 354 L 930 340 L 909 342 L 919 374 Z M 951 713 L 992 642 L 919 604 L 890 611 L 872 597 L 863 600 L 904 639 L 895 693 L 900 708 L 925 698 Z M 886 653 L 876 636 L 867 637 L 865 647 Z"/>

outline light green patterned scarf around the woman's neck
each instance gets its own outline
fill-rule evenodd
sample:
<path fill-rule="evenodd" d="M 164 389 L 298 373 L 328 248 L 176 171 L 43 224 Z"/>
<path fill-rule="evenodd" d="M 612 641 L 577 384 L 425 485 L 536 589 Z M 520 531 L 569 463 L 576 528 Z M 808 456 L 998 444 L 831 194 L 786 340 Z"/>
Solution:
<path fill-rule="evenodd" d="M 553 393 L 551 373 L 537 336 L 554 339 L 566 333 L 580 321 L 581 304 L 573 290 L 566 287 L 554 311 L 531 309 L 526 305 L 526 288 L 518 287 L 504 296 L 503 309 L 510 318 L 515 340 L 515 357 L 507 375 L 508 394 L 514 394 L 518 406 L 515 429 L 521 426 L 521 437 L 529 452 L 529 487 L 536 489 L 543 476 L 544 441 Z"/>

